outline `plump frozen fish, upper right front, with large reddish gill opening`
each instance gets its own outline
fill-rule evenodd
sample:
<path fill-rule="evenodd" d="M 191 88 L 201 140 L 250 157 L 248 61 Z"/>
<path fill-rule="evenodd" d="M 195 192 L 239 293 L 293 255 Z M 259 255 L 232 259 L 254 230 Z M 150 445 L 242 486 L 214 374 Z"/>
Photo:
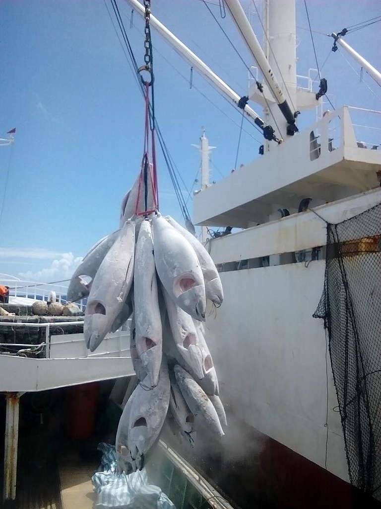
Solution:
<path fill-rule="evenodd" d="M 172 300 L 196 320 L 205 320 L 205 286 L 193 247 L 164 217 L 152 219 L 157 274 Z"/>

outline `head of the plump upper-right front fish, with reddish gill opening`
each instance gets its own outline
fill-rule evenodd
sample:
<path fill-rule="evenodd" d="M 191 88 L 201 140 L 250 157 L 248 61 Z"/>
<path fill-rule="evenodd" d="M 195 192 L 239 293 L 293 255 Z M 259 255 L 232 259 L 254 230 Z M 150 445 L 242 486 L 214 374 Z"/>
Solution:
<path fill-rule="evenodd" d="M 196 320 L 205 321 L 205 286 L 194 274 L 182 274 L 174 279 L 173 293 L 181 309 Z"/>

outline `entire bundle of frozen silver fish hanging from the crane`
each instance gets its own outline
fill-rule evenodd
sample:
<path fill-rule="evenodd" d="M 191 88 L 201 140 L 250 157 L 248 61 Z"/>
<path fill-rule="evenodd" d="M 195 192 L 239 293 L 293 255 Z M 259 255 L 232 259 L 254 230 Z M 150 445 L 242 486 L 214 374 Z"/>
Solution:
<path fill-rule="evenodd" d="M 120 229 L 92 247 L 68 290 L 72 301 L 88 296 L 84 336 L 91 351 L 132 316 L 139 384 L 116 436 L 126 472 L 143 467 L 167 413 L 190 439 L 196 430 L 221 437 L 227 425 L 202 323 L 206 300 L 223 301 L 218 272 L 204 246 L 174 219 L 136 214 L 144 199 L 147 210 L 147 193 L 137 182 L 123 199 Z"/>

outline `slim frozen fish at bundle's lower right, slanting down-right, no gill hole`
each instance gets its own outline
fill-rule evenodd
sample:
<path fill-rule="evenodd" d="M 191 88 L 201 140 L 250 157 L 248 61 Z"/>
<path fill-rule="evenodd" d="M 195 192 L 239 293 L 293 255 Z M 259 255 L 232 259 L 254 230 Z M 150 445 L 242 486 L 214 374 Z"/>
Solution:
<path fill-rule="evenodd" d="M 219 437 L 225 435 L 219 422 L 218 414 L 209 400 L 207 394 L 199 386 L 196 380 L 189 375 L 181 366 L 176 364 L 173 368 L 176 382 L 195 417 L 202 419 L 204 426 Z"/>

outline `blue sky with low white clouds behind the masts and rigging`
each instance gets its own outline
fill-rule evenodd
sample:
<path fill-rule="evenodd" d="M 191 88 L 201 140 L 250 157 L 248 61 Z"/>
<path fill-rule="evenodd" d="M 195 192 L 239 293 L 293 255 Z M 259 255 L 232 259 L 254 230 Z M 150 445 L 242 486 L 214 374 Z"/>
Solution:
<path fill-rule="evenodd" d="M 254 64 L 229 15 L 221 19 L 218 1 L 210 2 L 245 62 Z M 242 5 L 253 11 L 249 0 Z M 307 0 L 307 5 L 312 29 L 323 33 L 381 14 L 376 0 Z M 128 3 L 118 0 L 118 6 L 138 65 L 143 64 L 143 22 L 135 14 L 131 26 Z M 262 3 L 257 7 L 261 12 Z M 0 273 L 34 281 L 67 279 L 89 248 L 118 227 L 120 201 L 139 171 L 144 111 L 108 11 L 109 0 L 0 1 L 0 137 L 17 129 L 15 143 L 0 147 Z M 247 70 L 203 2 L 152 0 L 152 13 L 238 94 L 247 93 Z M 307 74 L 315 62 L 301 0 L 296 14 L 298 73 Z M 258 17 L 251 19 L 261 39 Z M 378 69 L 379 28 L 376 23 L 346 36 Z M 196 71 L 190 88 L 189 65 L 154 31 L 152 38 L 156 117 L 192 212 L 200 166 L 192 144 L 204 126 L 216 147 L 211 178 L 228 175 L 241 114 Z M 352 68 L 339 51 L 331 54 L 331 38 L 314 34 L 314 40 L 320 66 L 330 55 L 322 75 L 335 105 L 381 109 L 381 91 L 369 76 L 360 82 L 357 64 L 346 57 Z M 310 122 L 308 115 L 300 117 L 301 127 Z M 258 157 L 262 143 L 250 124 L 243 127 L 239 164 Z M 161 211 L 181 221 L 161 156 L 158 178 Z"/>

